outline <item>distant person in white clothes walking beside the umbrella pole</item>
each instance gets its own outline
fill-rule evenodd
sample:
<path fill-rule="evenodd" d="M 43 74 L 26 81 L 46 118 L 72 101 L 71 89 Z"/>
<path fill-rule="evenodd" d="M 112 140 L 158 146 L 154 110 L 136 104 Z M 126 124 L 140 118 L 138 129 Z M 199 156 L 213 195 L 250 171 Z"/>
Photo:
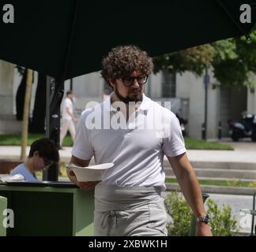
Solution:
<path fill-rule="evenodd" d="M 66 92 L 66 98 L 62 106 L 62 123 L 60 128 L 60 141 L 59 146 L 62 147 L 63 139 L 66 136 L 66 133 L 69 131 L 70 135 L 74 141 L 76 135 L 75 123 L 77 118 L 73 116 L 73 91 Z M 62 149 L 62 148 L 61 148 Z"/>

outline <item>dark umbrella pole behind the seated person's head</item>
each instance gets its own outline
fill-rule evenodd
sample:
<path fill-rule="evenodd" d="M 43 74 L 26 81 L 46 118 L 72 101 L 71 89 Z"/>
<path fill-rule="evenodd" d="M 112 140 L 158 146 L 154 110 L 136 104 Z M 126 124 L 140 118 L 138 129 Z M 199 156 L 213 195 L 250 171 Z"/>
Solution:
<path fill-rule="evenodd" d="M 57 147 L 59 147 L 60 105 L 63 93 L 64 81 L 56 81 L 47 76 L 46 136 L 53 140 Z M 58 181 L 58 164 L 51 165 L 49 169 L 43 172 L 43 180 Z"/>

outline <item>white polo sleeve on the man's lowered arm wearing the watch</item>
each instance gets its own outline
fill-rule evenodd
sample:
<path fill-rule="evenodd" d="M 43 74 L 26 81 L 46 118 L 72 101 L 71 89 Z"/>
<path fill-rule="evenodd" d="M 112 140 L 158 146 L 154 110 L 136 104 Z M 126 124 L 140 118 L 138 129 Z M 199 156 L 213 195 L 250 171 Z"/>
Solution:
<path fill-rule="evenodd" d="M 169 120 L 166 132 L 164 132 L 163 151 L 168 157 L 179 156 L 186 152 L 179 120 L 174 113 L 171 113 L 171 120 Z"/>

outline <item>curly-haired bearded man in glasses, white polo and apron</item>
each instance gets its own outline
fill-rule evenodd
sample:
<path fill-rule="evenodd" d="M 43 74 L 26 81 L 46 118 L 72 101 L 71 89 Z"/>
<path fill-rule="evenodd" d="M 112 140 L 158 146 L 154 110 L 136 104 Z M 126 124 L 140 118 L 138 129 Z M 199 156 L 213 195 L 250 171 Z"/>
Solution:
<path fill-rule="evenodd" d="M 167 235 L 161 197 L 166 188 L 164 155 L 198 217 L 196 235 L 211 235 L 179 120 L 143 94 L 152 73 L 152 59 L 137 46 L 118 46 L 102 63 L 101 74 L 113 93 L 82 113 L 71 163 L 88 166 L 94 156 L 96 164 L 112 162 L 114 167 L 107 169 L 100 183 L 77 182 L 68 170 L 70 180 L 82 189 L 95 188 L 95 235 Z M 101 126 L 110 121 L 110 127 L 90 127 L 92 117 L 103 120 Z M 164 124 L 159 124 L 162 119 Z"/>

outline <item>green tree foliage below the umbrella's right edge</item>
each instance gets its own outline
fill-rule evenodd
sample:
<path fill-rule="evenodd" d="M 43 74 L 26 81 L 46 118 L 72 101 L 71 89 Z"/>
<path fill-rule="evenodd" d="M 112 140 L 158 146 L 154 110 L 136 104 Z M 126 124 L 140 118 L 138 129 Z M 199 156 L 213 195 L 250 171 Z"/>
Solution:
<path fill-rule="evenodd" d="M 154 63 L 155 72 L 161 69 L 181 74 L 190 71 L 198 76 L 209 66 L 223 87 L 251 86 L 250 76 L 256 74 L 256 28 L 251 31 L 250 39 L 242 36 L 195 46 L 155 57 Z"/>

